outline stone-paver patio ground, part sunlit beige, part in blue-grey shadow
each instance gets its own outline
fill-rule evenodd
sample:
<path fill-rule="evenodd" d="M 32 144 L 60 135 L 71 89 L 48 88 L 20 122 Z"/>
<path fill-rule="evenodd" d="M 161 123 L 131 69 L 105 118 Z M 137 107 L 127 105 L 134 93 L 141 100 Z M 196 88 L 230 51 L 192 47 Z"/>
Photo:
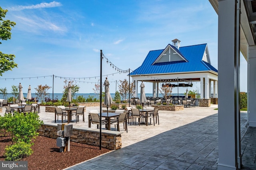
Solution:
<path fill-rule="evenodd" d="M 122 149 L 108 152 L 80 164 L 66 168 L 67 170 L 200 170 L 216 169 L 218 160 L 218 105 L 211 107 L 185 108 L 183 111 L 159 111 L 159 125 L 128 125 L 128 133 L 122 131 Z M 47 113 L 40 107 L 40 119 L 46 124 L 54 123 L 54 113 Z M 99 107 L 86 107 L 89 110 Z M 5 112 L 5 111 L 4 111 Z M 1 114 L 1 113 L 0 113 Z M 241 113 L 241 135 L 245 142 L 241 143 L 244 169 L 255 169 L 253 157 L 246 140 L 256 138 L 253 128 L 246 133 L 244 127 L 247 113 Z M 73 128 L 88 127 L 88 114 L 85 122 L 72 123 Z M 61 123 L 60 120 L 58 123 Z M 96 128 L 96 125 L 92 125 Z M 111 128 L 114 129 L 114 125 Z M 251 157 L 252 156 L 252 157 Z M 254 156 L 255 157 L 255 156 Z"/>

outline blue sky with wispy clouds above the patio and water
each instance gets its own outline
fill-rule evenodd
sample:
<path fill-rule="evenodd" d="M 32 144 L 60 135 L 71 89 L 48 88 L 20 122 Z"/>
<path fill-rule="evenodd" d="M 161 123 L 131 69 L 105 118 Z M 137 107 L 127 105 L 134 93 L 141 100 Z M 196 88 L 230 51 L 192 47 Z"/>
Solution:
<path fill-rule="evenodd" d="M 218 16 L 207 0 L 1 0 L 0 6 L 8 10 L 5 19 L 16 22 L 12 39 L 0 45 L 3 53 L 16 55 L 18 64 L 0 77 L 0 88 L 9 93 L 19 82 L 24 92 L 31 85 L 32 93 L 40 84 L 52 86 L 53 74 L 54 93 L 62 93 L 63 77 L 81 78 L 75 79 L 79 93 L 93 93 L 100 79 L 100 49 L 118 68 L 135 70 L 150 50 L 164 49 L 173 39 L 181 46 L 207 43 L 211 64 L 218 68 Z M 246 69 L 241 57 L 241 82 Z M 104 59 L 102 75 L 108 75 L 110 93 L 116 80 L 128 80 L 127 73 L 115 73 Z M 145 86 L 152 93 L 152 84 Z M 196 86 L 200 83 L 189 90 Z M 240 91 L 247 92 L 247 84 L 241 83 Z"/>

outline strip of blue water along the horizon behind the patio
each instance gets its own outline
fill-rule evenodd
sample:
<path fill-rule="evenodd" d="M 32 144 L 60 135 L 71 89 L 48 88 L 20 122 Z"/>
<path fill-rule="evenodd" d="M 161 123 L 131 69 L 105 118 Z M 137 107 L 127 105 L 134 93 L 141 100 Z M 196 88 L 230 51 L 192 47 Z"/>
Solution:
<path fill-rule="evenodd" d="M 24 98 L 27 97 L 27 93 L 23 93 L 23 95 L 24 95 Z M 53 94 L 53 98 L 60 100 L 60 99 L 62 98 L 62 95 L 63 95 L 62 93 L 54 93 L 54 94 Z M 114 94 L 114 93 L 111 93 L 110 95 L 111 95 L 111 97 L 114 99 L 115 94 Z M 184 96 L 184 94 L 179 94 L 179 95 L 180 95 L 180 96 Z M 6 99 L 8 99 L 8 98 L 10 98 L 10 97 L 13 97 L 13 96 L 14 96 L 14 95 L 12 95 L 11 93 L 8 93 Z M 31 96 L 32 96 L 32 98 L 37 97 L 35 93 L 32 93 Z M 97 95 L 96 95 L 95 93 L 78 93 L 78 94 L 76 94 L 76 95 L 74 96 L 74 99 L 76 99 L 77 96 L 83 96 L 84 98 L 88 98 L 89 96 L 93 96 L 94 98 L 97 98 Z M 152 96 L 153 96 L 152 93 L 146 93 L 146 97 L 152 97 Z M 172 96 L 178 96 L 178 94 L 172 94 Z M 131 96 L 131 98 L 132 98 L 132 97 L 133 97 L 133 96 Z M 162 94 L 159 94 L 159 97 L 163 97 L 163 95 L 162 95 Z M 52 99 L 52 93 L 50 93 L 49 98 Z M 140 98 L 140 94 L 138 94 L 138 98 Z M 4 99 L 4 96 L 3 96 L 2 94 L 0 94 L 0 99 Z M 121 97 L 121 100 L 122 100 L 122 97 Z"/>

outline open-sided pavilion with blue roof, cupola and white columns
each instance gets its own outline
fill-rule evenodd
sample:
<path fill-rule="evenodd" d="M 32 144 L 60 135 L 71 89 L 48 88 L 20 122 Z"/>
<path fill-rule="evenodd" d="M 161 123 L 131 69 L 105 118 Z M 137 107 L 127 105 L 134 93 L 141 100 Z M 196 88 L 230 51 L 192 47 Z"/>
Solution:
<path fill-rule="evenodd" d="M 218 70 L 211 65 L 207 44 L 180 47 L 180 40 L 172 40 L 165 49 L 150 51 L 142 65 L 130 73 L 138 96 L 138 81 L 152 82 L 152 93 L 159 96 L 160 84 L 192 87 L 200 82 L 200 98 L 209 99 L 211 82 L 213 97 L 218 97 Z"/>

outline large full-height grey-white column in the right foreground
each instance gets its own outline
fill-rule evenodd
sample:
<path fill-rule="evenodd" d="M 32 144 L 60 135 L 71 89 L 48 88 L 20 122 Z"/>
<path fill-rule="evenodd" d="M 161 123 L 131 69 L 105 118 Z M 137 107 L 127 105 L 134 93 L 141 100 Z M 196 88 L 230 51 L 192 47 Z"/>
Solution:
<path fill-rule="evenodd" d="M 238 168 L 237 0 L 218 1 L 218 170 Z M 234 69 L 235 68 L 235 69 Z M 234 84 L 234 86 L 233 86 Z M 230 100 L 227 100 L 227 96 Z"/>

